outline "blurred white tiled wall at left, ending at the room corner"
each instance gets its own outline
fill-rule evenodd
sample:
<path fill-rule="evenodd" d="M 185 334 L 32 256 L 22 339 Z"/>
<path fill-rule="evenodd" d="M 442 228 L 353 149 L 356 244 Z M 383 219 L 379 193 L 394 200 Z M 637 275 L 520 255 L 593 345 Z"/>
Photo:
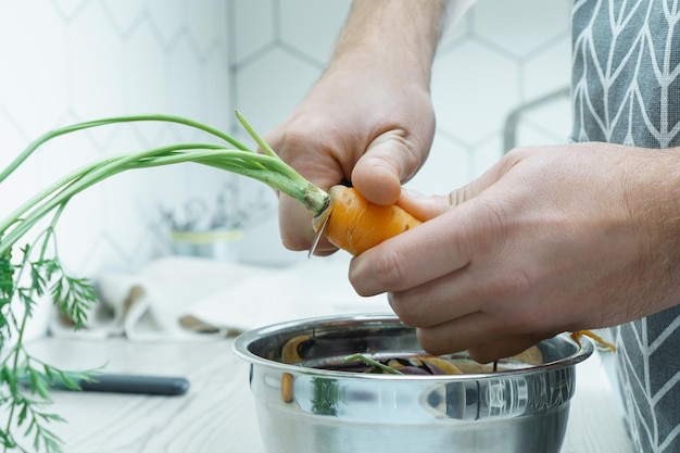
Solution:
<path fill-rule="evenodd" d="M 104 116 L 172 113 L 227 129 L 226 24 L 225 0 L 0 1 L 0 167 L 43 131 Z M 92 160 L 198 138 L 161 124 L 60 138 L 2 184 L 0 215 Z M 88 189 L 59 223 L 63 263 L 88 276 L 139 267 L 167 250 L 159 204 L 215 192 L 227 178 L 186 165 Z"/>

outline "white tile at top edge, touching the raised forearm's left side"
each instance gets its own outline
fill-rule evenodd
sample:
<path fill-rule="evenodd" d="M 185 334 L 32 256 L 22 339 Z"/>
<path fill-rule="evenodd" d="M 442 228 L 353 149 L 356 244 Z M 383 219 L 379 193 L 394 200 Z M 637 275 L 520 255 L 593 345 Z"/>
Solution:
<path fill-rule="evenodd" d="M 319 62 L 328 61 L 351 1 L 287 0 L 280 2 L 280 38 Z"/>

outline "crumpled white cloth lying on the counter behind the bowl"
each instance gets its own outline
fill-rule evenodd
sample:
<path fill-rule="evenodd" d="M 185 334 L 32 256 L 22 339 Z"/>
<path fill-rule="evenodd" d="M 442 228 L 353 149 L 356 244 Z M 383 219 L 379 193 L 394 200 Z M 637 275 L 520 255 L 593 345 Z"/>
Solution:
<path fill-rule="evenodd" d="M 348 280 L 349 256 L 287 267 L 168 256 L 135 274 L 95 279 L 99 302 L 74 331 L 54 313 L 54 336 L 131 341 L 201 340 L 313 316 L 391 313 L 385 295 L 362 298 Z"/>

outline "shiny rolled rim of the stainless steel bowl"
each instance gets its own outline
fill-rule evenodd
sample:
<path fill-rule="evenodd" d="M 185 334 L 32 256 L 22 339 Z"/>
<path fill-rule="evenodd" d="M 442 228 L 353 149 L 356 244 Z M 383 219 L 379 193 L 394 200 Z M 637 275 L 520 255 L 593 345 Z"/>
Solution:
<path fill-rule="evenodd" d="M 390 315 L 389 313 L 360 313 L 360 314 L 345 314 L 345 315 L 330 315 L 330 316 L 315 316 L 307 318 L 299 318 L 285 320 L 280 323 L 269 324 L 266 326 L 257 327 L 248 330 L 239 335 L 231 344 L 234 354 L 238 357 L 249 362 L 251 366 L 262 366 L 266 368 L 277 369 L 282 373 L 291 375 L 311 375 L 324 378 L 342 378 L 342 379 L 377 379 L 377 380 L 404 380 L 404 381 L 457 381 L 457 380 L 484 380 L 484 379 L 498 379 L 501 377 L 516 377 L 528 376 L 534 374 L 542 374 L 549 370 L 556 370 L 562 368 L 568 368 L 583 362 L 590 357 L 594 352 L 594 343 L 588 337 L 580 339 L 580 344 L 574 341 L 569 336 L 565 334 L 558 334 L 553 338 L 562 338 L 562 341 L 568 341 L 572 343 L 576 351 L 572 354 L 565 356 L 559 361 L 547 362 L 542 365 L 531 366 L 528 368 L 511 369 L 495 373 L 475 373 L 463 375 L 392 375 L 392 374 L 370 374 L 370 373 L 351 373 L 324 368 L 312 368 L 307 366 L 297 364 L 286 364 L 269 358 L 262 357 L 250 351 L 249 345 L 256 339 L 263 336 L 284 331 L 286 329 L 312 324 L 328 324 L 328 323 L 347 323 L 354 322 L 390 322 L 401 324 L 405 327 L 396 315 Z M 550 340 L 551 338 L 546 339 Z M 545 341 L 545 340 L 543 340 Z"/>

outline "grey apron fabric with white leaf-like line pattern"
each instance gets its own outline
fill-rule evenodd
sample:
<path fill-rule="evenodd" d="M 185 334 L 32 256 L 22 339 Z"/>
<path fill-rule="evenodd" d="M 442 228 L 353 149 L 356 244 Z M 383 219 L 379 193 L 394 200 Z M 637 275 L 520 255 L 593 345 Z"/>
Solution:
<path fill-rule="evenodd" d="M 572 141 L 680 144 L 680 0 L 575 0 Z M 680 453 L 680 306 L 614 329 L 640 453 Z"/>

